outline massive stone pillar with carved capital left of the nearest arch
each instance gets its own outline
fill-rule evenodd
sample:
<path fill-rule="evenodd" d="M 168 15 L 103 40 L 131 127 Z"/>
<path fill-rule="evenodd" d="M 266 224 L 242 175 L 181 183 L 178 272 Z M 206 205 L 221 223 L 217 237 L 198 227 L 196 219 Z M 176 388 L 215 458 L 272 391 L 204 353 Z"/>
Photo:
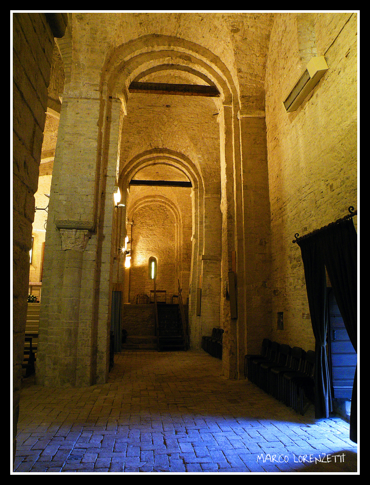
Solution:
<path fill-rule="evenodd" d="M 63 96 L 40 309 L 36 379 L 43 385 L 108 377 L 121 102 L 107 98 L 102 104 L 93 92 Z"/>

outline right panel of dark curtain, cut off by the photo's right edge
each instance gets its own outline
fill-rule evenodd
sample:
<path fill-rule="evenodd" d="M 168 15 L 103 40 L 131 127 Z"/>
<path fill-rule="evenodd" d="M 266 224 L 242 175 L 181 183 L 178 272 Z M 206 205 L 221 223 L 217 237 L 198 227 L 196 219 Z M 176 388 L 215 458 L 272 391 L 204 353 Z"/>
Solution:
<path fill-rule="evenodd" d="M 326 269 L 351 344 L 357 352 L 357 233 L 353 220 L 320 233 Z M 357 367 L 352 389 L 350 439 L 357 443 Z"/>

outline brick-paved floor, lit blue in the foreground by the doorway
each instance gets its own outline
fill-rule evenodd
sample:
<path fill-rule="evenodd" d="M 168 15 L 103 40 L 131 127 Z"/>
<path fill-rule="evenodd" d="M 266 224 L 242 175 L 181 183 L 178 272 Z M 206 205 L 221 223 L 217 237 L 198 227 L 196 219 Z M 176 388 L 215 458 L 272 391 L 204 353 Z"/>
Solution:
<path fill-rule="evenodd" d="M 357 445 L 203 351 L 125 351 L 106 384 L 23 382 L 14 472 L 358 473 Z"/>

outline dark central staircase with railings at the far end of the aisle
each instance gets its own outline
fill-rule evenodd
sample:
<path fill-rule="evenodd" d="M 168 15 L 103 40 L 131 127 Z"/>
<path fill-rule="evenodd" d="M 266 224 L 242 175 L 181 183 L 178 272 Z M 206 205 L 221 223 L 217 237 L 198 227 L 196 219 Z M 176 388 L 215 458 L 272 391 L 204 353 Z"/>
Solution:
<path fill-rule="evenodd" d="M 187 350 L 178 304 L 157 304 L 158 350 Z"/>

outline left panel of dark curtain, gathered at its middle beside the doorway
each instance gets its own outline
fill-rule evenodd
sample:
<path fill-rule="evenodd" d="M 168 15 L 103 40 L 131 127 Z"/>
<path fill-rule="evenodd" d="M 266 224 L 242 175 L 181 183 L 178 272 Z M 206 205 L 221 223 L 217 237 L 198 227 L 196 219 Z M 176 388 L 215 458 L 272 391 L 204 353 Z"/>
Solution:
<path fill-rule="evenodd" d="M 328 418 L 332 411 L 332 402 L 326 353 L 328 311 L 324 257 L 317 235 L 297 242 L 302 253 L 308 306 L 315 337 L 315 417 Z"/>

